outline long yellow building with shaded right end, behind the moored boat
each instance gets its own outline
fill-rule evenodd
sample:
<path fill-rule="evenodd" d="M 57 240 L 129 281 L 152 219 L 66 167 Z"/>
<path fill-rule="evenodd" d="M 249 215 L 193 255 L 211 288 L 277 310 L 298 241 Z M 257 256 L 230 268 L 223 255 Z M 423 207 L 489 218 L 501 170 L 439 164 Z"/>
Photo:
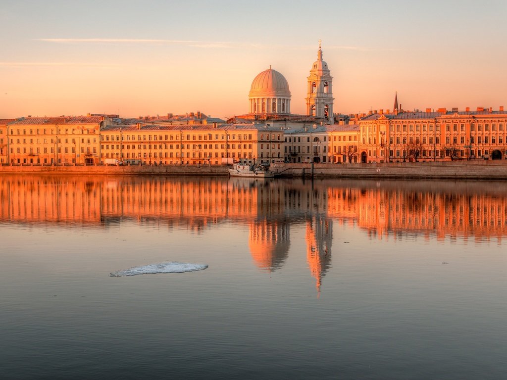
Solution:
<path fill-rule="evenodd" d="M 107 126 L 100 162 L 130 165 L 222 165 L 283 161 L 283 131 L 256 124 Z"/>

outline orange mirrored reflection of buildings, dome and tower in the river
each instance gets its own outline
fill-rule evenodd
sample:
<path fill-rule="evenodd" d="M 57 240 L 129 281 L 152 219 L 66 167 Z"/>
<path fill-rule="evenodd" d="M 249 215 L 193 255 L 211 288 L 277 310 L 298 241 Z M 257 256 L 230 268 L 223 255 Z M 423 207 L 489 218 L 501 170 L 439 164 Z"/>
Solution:
<path fill-rule="evenodd" d="M 285 263 L 290 225 L 306 225 L 317 291 L 331 264 L 333 220 L 370 238 L 404 234 L 498 242 L 507 232 L 507 190 L 493 182 L 256 180 L 244 178 L 0 176 L 0 221 L 107 227 L 120 220 L 185 227 L 242 223 L 255 264 Z"/>

